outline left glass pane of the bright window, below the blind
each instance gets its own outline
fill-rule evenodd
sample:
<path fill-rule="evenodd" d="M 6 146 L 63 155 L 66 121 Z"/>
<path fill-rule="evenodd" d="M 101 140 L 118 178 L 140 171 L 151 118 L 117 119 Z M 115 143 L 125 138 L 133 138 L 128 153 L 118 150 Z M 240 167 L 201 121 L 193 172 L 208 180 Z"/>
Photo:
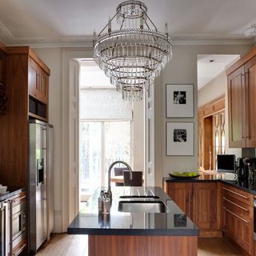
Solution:
<path fill-rule="evenodd" d="M 101 186 L 102 123 L 80 122 L 79 163 L 81 194 L 92 194 Z"/>

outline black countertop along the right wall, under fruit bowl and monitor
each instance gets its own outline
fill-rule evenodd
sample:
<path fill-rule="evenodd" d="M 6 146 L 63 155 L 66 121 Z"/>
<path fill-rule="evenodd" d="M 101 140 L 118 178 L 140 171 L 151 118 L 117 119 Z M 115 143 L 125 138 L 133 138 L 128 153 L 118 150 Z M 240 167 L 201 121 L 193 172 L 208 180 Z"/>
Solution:
<path fill-rule="evenodd" d="M 229 179 L 227 179 L 229 177 Z M 256 182 L 248 181 L 248 179 L 240 178 L 230 178 L 230 174 L 216 173 L 216 175 L 211 175 L 211 178 L 163 178 L 163 182 L 222 182 L 230 186 L 234 186 L 240 190 L 249 192 L 250 194 L 256 194 Z"/>

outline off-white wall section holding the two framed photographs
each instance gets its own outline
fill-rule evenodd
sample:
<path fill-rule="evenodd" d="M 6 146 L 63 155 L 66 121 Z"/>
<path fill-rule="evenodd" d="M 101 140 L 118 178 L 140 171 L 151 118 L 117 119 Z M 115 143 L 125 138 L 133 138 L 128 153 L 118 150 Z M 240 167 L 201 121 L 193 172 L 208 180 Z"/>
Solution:
<path fill-rule="evenodd" d="M 225 46 L 174 46 L 173 58 L 155 83 L 155 177 L 157 186 L 162 186 L 162 177 L 170 172 L 198 170 L 198 54 L 241 54 L 250 50 L 250 45 Z M 194 84 L 194 118 L 166 118 L 166 84 Z M 194 122 L 194 155 L 166 156 L 166 122 Z"/>

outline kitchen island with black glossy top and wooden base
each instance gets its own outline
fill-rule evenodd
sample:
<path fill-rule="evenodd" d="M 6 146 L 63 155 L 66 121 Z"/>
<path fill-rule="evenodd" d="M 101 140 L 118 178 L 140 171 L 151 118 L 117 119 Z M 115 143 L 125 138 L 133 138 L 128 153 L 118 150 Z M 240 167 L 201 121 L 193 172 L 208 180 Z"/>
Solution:
<path fill-rule="evenodd" d="M 90 256 L 198 254 L 198 227 L 160 187 L 112 188 L 110 214 L 98 213 L 100 190 L 95 191 L 67 230 L 68 234 L 89 235 Z M 120 203 L 131 201 L 137 201 L 137 209 L 122 211 Z M 140 211 L 139 205 L 145 202 L 163 202 L 164 209 L 161 213 Z"/>

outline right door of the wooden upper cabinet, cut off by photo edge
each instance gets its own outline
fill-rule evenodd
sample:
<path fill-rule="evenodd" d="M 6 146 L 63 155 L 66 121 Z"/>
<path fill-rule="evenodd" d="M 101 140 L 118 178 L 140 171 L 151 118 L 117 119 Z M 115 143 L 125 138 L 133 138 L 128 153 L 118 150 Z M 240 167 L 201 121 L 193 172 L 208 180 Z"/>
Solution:
<path fill-rule="evenodd" d="M 256 56 L 246 62 L 246 147 L 256 147 Z"/>

